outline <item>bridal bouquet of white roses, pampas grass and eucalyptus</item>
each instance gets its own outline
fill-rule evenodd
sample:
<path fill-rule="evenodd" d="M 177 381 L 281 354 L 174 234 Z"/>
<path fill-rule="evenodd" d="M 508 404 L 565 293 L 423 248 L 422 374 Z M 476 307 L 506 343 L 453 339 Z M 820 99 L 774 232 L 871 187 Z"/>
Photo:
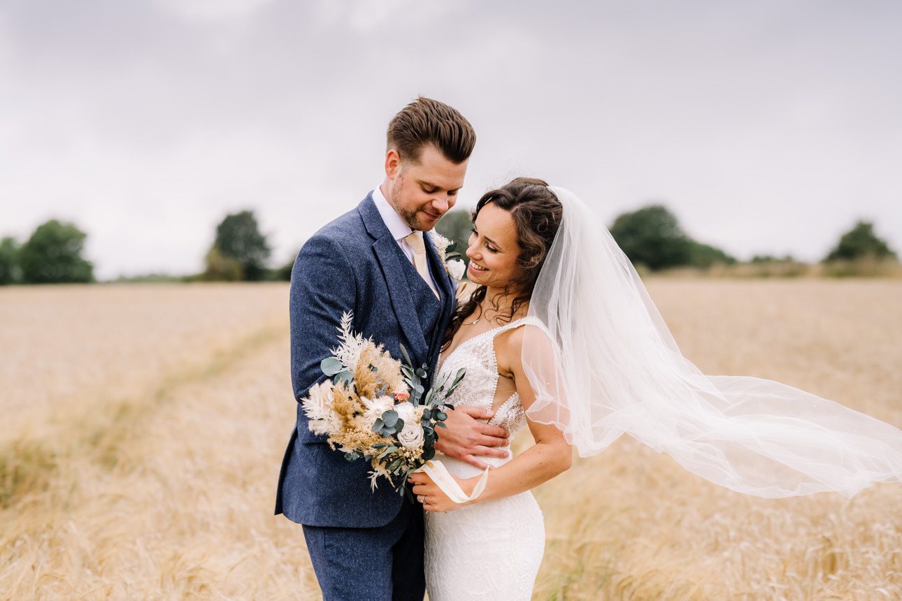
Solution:
<path fill-rule="evenodd" d="M 370 461 L 370 484 L 383 476 L 403 494 L 407 477 L 435 457 L 437 428 L 445 428 L 448 396 L 464 378 L 442 378 L 428 391 L 422 385 L 426 366 L 415 369 L 403 346 L 403 362 L 382 345 L 351 330 L 352 314 L 342 315 L 339 344 L 322 360 L 328 378 L 301 399 L 310 431 L 326 434 L 332 449 L 348 461 Z M 394 479 L 397 478 L 397 479 Z M 397 485 L 394 483 L 398 482 Z"/>

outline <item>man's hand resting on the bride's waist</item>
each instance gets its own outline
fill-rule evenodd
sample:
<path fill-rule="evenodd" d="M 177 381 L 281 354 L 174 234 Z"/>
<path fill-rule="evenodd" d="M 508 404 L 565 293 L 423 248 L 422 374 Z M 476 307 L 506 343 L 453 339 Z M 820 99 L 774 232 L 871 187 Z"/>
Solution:
<path fill-rule="evenodd" d="M 479 460 L 480 457 L 505 458 L 510 452 L 498 449 L 508 444 L 510 434 L 504 428 L 479 422 L 489 419 L 494 414 L 487 409 L 458 405 L 447 412 L 445 420 L 447 428 L 438 429 L 437 451 L 448 457 L 466 461 L 479 469 L 490 466 Z"/>

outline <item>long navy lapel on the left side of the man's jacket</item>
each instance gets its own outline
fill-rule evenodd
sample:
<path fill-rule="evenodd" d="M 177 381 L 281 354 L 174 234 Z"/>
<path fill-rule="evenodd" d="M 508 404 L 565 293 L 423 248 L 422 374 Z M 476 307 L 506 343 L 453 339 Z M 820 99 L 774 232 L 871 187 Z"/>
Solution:
<path fill-rule="evenodd" d="M 366 231 L 376 239 L 373 242 L 373 252 L 382 267 L 382 274 L 388 284 L 391 308 L 398 317 L 398 323 L 400 323 L 405 338 L 413 347 L 410 349 L 410 353 L 414 357 L 428 360 L 428 343 L 423 335 L 423 328 L 419 324 L 417 307 L 413 302 L 413 297 L 410 296 L 407 278 L 404 277 L 402 271 L 404 264 L 401 260 L 404 259 L 404 254 L 382 221 L 382 215 L 373 204 L 372 194 L 364 198 L 364 202 L 357 207 L 357 210 L 364 220 Z"/>

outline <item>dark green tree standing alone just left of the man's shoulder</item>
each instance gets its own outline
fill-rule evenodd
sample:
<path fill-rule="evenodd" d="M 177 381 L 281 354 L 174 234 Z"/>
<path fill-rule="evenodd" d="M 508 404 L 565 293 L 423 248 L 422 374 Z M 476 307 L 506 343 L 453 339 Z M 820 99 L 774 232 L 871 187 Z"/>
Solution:
<path fill-rule="evenodd" d="M 216 250 L 216 253 L 213 252 Z M 241 267 L 240 279 L 258 281 L 266 278 L 266 261 L 270 258 L 270 245 L 260 232 L 253 211 L 227 214 L 216 226 L 216 240 L 207 253 L 205 279 L 229 279 L 235 269 L 223 263 L 235 260 Z M 212 270 L 211 270 L 212 269 Z M 221 278 L 219 276 L 222 276 Z"/>

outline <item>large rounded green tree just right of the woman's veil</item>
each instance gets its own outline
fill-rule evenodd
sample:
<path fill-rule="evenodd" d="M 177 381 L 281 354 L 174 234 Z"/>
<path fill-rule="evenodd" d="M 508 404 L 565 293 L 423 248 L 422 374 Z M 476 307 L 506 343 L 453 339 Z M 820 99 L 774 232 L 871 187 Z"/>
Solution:
<path fill-rule="evenodd" d="M 630 261 L 649 269 L 686 265 L 690 260 L 691 242 L 676 216 L 664 205 L 623 213 L 614 220 L 610 231 Z"/>

